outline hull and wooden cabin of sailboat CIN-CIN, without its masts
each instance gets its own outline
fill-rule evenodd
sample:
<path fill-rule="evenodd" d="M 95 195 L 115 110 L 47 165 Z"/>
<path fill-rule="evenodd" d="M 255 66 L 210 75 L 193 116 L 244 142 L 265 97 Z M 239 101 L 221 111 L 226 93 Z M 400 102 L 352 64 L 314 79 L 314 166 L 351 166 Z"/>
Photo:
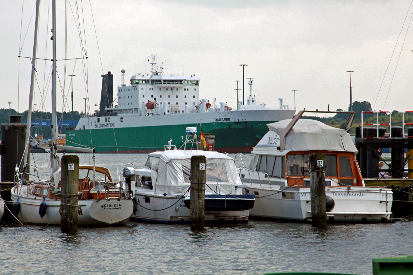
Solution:
<path fill-rule="evenodd" d="M 60 224 L 60 171 L 59 169 L 54 175 L 57 184 L 52 181 L 30 181 L 12 188 L 13 212 L 21 222 Z M 94 176 L 99 179 L 93 180 Z M 126 223 L 133 212 L 132 196 L 128 186 L 112 180 L 107 168 L 80 165 L 78 225 L 109 226 Z"/>

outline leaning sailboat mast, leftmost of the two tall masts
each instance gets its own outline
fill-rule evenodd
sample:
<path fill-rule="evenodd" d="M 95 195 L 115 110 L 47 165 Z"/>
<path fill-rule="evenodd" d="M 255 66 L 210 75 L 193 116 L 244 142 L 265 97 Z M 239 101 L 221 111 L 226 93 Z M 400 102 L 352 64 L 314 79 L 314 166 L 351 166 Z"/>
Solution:
<path fill-rule="evenodd" d="M 33 106 L 33 93 L 35 85 L 35 73 L 36 73 L 36 57 L 37 57 L 37 34 L 39 27 L 39 9 L 40 9 L 40 0 L 36 1 L 36 21 L 34 24 L 34 42 L 33 42 L 33 59 L 31 61 L 31 78 L 30 78 L 30 94 L 28 98 L 28 111 L 27 111 L 27 127 L 26 127 L 26 150 L 24 151 L 23 165 L 21 167 L 26 167 L 27 154 L 30 150 L 28 143 L 30 142 L 30 130 L 31 130 L 31 110 Z"/>

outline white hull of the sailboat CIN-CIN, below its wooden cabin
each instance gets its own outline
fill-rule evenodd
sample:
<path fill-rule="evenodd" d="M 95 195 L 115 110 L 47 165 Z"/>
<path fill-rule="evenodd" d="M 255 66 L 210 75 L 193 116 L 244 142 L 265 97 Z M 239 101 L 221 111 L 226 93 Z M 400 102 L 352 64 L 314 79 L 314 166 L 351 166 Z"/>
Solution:
<path fill-rule="evenodd" d="M 19 194 L 19 195 L 17 195 Z M 39 215 L 39 206 L 43 199 L 28 195 L 25 186 L 12 189 L 12 200 L 20 203 L 18 218 L 22 223 L 60 225 L 60 200 L 48 200 L 47 211 L 43 218 Z M 78 225 L 104 226 L 126 223 L 133 211 L 132 200 L 101 199 L 78 200 Z"/>

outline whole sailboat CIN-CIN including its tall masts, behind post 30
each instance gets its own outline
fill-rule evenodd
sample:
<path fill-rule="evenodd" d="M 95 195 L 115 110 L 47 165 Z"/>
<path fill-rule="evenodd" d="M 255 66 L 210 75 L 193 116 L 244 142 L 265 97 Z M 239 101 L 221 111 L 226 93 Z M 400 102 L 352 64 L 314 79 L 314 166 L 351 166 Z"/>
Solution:
<path fill-rule="evenodd" d="M 27 159 L 30 139 L 39 5 L 40 0 L 37 0 L 31 89 L 26 129 L 26 150 L 23 160 Z M 75 150 L 93 154 L 93 165 L 79 166 L 79 176 L 81 178 L 78 181 L 77 194 L 78 225 L 99 226 L 125 223 L 133 212 L 132 198 L 135 187 L 131 188 L 130 185 L 124 186 L 119 182 L 113 181 L 109 169 L 95 166 L 95 149 L 68 147 L 57 143 L 56 38 L 56 5 L 55 0 L 52 0 L 52 146 L 50 148 L 52 176 L 49 180 L 27 181 L 24 180 L 24 175 L 27 174 L 25 171 L 27 170 L 23 169 L 23 172 L 19 172 L 20 170 L 17 167 L 15 173 L 18 181 L 11 190 L 11 197 L 14 202 L 13 214 L 23 223 L 60 224 L 61 169 L 59 168 L 60 159 L 57 155 L 57 150 Z"/>

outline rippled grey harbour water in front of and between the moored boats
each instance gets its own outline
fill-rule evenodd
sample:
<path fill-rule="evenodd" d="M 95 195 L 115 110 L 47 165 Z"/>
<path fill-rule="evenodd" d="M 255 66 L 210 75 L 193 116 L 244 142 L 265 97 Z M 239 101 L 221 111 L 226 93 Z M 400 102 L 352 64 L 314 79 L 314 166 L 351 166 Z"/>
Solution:
<path fill-rule="evenodd" d="M 47 177 L 49 155 L 32 157 L 40 178 Z M 83 154 L 79 158 L 81 164 L 92 159 Z M 97 154 L 96 165 L 109 168 L 116 179 L 119 165 L 142 167 L 146 158 Z M 334 224 L 324 229 L 252 220 L 208 225 L 200 232 L 189 225 L 131 221 L 117 227 L 79 227 L 75 235 L 63 234 L 57 226 L 27 227 L 0 224 L 0 274 L 372 274 L 372 258 L 413 255 L 409 216 L 396 223 Z"/>

